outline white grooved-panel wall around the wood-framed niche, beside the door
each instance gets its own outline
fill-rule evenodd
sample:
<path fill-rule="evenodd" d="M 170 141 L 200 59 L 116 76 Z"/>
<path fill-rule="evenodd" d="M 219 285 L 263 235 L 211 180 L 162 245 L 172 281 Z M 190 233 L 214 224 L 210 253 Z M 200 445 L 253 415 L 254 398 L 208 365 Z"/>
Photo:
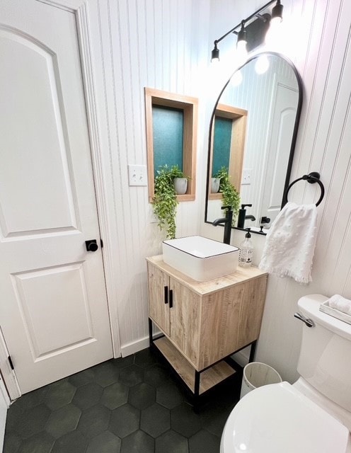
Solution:
<path fill-rule="evenodd" d="M 146 165 L 144 87 L 200 96 L 209 63 L 209 0 L 87 1 L 108 193 L 105 253 L 114 268 L 110 314 L 127 355 L 148 345 L 145 257 L 161 253 L 164 239 L 152 223 L 147 187 L 128 185 L 128 164 Z M 205 128 L 202 117 L 199 130 Z M 202 142 L 199 136 L 195 151 Z M 198 173 L 196 200 L 178 206 L 178 236 L 200 229 Z"/>

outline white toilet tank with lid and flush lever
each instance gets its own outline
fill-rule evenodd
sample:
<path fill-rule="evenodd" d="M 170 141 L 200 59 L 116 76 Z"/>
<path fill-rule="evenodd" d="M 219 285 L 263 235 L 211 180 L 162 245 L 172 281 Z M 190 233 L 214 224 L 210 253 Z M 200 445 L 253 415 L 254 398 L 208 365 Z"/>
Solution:
<path fill-rule="evenodd" d="M 321 394 L 351 412 L 351 325 L 319 311 L 327 299 L 321 294 L 299 299 L 299 312 L 316 326 L 303 325 L 297 371 Z"/>

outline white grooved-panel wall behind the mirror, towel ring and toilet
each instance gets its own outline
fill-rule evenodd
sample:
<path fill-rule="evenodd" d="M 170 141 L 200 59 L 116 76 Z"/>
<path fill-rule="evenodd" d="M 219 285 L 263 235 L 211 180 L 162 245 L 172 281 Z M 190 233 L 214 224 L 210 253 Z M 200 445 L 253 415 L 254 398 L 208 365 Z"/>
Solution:
<path fill-rule="evenodd" d="M 343 294 L 351 299 L 351 4 L 343 0 L 284 0 L 284 25 L 292 36 L 282 52 L 292 59 L 304 84 L 292 179 L 310 171 L 321 173 L 326 195 L 318 207 L 318 239 L 313 259 L 313 282 L 269 277 L 263 325 L 256 360 L 275 367 L 284 379 L 297 378 L 301 323 L 294 319 L 297 300 L 304 294 Z M 212 1 L 213 35 L 221 35 L 260 6 L 258 1 Z M 238 13 L 241 17 L 238 17 Z M 289 200 L 314 202 L 318 190 L 294 185 Z M 202 231 L 209 236 L 211 227 Z M 262 238 L 253 238 L 256 262 Z M 234 234 L 233 242 L 241 240 Z"/>

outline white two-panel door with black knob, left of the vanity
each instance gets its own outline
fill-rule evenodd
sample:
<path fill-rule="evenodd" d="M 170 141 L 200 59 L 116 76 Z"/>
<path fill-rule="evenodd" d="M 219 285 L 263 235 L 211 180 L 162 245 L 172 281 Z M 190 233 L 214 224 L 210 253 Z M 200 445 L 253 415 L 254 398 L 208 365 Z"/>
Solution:
<path fill-rule="evenodd" d="M 0 324 L 25 393 L 113 352 L 74 13 L 1 0 L 0 62 Z"/>

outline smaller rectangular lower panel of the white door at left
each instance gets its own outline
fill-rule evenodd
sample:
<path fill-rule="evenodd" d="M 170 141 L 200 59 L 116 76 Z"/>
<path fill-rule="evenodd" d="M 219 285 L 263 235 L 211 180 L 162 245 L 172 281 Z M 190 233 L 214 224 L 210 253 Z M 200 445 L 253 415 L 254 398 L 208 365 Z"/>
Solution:
<path fill-rule="evenodd" d="M 33 360 L 76 348 L 93 338 L 84 264 L 62 265 L 13 275 L 13 286 Z M 50 304 L 47 300 L 50 288 Z M 74 304 L 62 300 L 74 294 Z"/>

